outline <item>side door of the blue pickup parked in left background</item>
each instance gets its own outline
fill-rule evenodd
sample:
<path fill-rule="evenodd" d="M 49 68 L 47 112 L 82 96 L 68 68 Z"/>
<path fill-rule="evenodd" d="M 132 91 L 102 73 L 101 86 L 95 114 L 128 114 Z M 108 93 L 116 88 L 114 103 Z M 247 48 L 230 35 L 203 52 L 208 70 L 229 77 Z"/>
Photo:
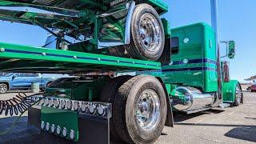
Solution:
<path fill-rule="evenodd" d="M 11 79 L 11 85 L 13 89 L 26 88 L 26 74 L 16 73 Z"/>

